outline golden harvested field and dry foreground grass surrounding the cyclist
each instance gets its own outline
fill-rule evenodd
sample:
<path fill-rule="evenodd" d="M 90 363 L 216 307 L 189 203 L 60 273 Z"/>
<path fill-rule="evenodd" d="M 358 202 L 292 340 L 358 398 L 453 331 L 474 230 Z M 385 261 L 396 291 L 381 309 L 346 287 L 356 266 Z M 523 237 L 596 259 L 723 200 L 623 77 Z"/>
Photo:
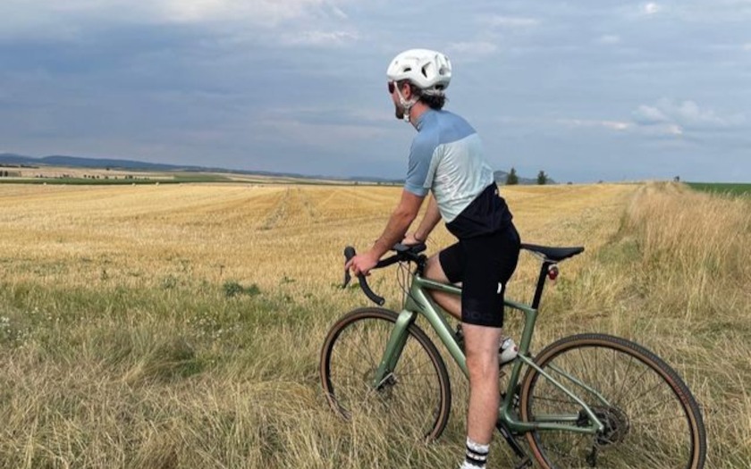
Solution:
<path fill-rule="evenodd" d="M 340 288 L 343 247 L 368 247 L 400 192 L 0 186 L 0 468 L 459 465 L 455 369 L 430 445 L 342 421 L 320 389 L 328 328 L 367 305 Z M 580 331 L 646 345 L 703 408 L 706 467 L 751 467 L 751 201 L 658 183 L 502 195 L 523 241 L 586 246 L 547 290 L 533 347 Z M 428 250 L 449 243 L 439 228 Z M 509 297 L 529 299 L 537 265 L 523 255 Z M 371 285 L 400 308 L 395 269 Z M 495 443 L 489 467 L 511 461 Z"/>

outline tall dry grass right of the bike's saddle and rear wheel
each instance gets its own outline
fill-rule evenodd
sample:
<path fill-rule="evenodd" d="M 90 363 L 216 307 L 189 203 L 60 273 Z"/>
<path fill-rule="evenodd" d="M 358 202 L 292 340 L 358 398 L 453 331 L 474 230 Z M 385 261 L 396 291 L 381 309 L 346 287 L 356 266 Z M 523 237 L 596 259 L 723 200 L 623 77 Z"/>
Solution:
<path fill-rule="evenodd" d="M 540 336 L 596 330 L 653 349 L 703 407 L 707 466 L 751 467 L 751 199 L 647 184 L 592 261 L 549 292 L 543 313 L 561 326 Z"/>

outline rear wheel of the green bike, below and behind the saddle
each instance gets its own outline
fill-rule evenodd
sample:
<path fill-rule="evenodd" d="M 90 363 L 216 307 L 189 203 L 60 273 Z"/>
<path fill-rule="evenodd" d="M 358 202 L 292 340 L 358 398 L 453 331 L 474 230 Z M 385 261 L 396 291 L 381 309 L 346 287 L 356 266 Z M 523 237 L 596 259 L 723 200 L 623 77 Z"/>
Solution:
<path fill-rule="evenodd" d="M 646 348 L 605 334 L 581 334 L 553 342 L 535 362 L 565 381 L 605 425 L 597 435 L 527 432 L 529 448 L 544 469 L 704 467 L 706 431 L 696 399 L 678 373 Z M 600 392 L 609 404 L 598 403 L 594 394 L 563 379 L 551 364 Z M 536 369 L 527 370 L 519 396 L 522 421 L 535 422 L 547 413 L 576 414 L 577 409 L 573 399 Z M 584 426 L 588 420 L 580 411 L 578 423 Z"/>

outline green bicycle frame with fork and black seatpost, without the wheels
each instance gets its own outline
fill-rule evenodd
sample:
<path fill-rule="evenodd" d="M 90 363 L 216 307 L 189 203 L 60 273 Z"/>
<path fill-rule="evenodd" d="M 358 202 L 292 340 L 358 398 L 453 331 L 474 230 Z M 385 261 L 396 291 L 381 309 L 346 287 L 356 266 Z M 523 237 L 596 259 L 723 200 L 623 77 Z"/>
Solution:
<path fill-rule="evenodd" d="M 511 368 L 511 376 L 509 379 L 508 388 L 506 389 L 505 398 L 499 409 L 499 419 L 505 423 L 507 428 L 512 432 L 527 432 L 537 430 L 558 430 L 558 431 L 575 431 L 579 433 L 595 434 L 598 431 L 603 431 L 603 423 L 597 418 L 594 411 L 590 406 L 586 405 L 581 398 L 566 388 L 559 380 L 556 380 L 550 373 L 545 372 L 533 361 L 529 356 L 529 346 L 532 341 L 532 335 L 535 330 L 535 324 L 537 321 L 538 307 L 540 299 L 542 297 L 542 290 L 544 288 L 545 277 L 547 276 L 548 269 L 555 263 L 550 261 L 544 261 L 543 267 L 540 271 L 540 277 L 537 281 L 537 288 L 532 305 L 527 306 L 522 303 L 508 300 L 504 301 L 504 305 L 521 311 L 524 314 L 524 328 L 522 330 L 521 339 L 519 342 L 519 355 L 514 360 Z M 468 377 L 467 358 L 464 352 L 461 350 L 457 340 L 454 336 L 454 332 L 451 331 L 449 322 L 446 321 L 445 314 L 440 306 L 437 306 L 432 297 L 430 297 L 428 291 L 435 290 L 451 295 L 461 295 L 461 289 L 459 287 L 444 284 L 436 281 L 430 281 L 423 278 L 419 273 L 415 273 L 412 277 L 412 283 L 409 287 L 409 293 L 404 302 L 403 309 L 399 318 L 394 325 L 391 336 L 386 344 L 384 350 L 384 356 L 378 366 L 373 381 L 373 386 L 378 389 L 384 382 L 389 380 L 392 375 L 392 371 L 395 369 L 397 362 L 401 356 L 401 351 L 406 344 L 408 337 L 409 325 L 415 322 L 418 315 L 423 315 L 430 326 L 434 329 L 438 338 L 441 339 L 443 345 L 448 350 L 449 355 L 453 358 L 457 365 L 459 365 L 462 373 Z M 521 374 L 522 366 L 527 365 L 536 369 L 544 378 L 550 381 L 555 387 L 561 389 L 566 395 L 572 398 L 575 402 L 581 406 L 586 415 L 589 417 L 589 424 L 586 426 L 578 425 L 580 414 L 571 415 L 537 415 L 536 422 L 528 423 L 521 422 L 513 411 L 513 399 L 514 389 L 519 382 L 519 376 Z M 573 382 L 578 388 L 585 389 L 586 392 L 595 396 L 603 406 L 609 406 L 609 403 L 602 395 L 596 392 L 582 381 L 579 381 L 576 377 L 570 373 L 566 373 L 555 366 L 550 366 L 551 370 L 557 374 L 560 374 L 562 378 Z"/>

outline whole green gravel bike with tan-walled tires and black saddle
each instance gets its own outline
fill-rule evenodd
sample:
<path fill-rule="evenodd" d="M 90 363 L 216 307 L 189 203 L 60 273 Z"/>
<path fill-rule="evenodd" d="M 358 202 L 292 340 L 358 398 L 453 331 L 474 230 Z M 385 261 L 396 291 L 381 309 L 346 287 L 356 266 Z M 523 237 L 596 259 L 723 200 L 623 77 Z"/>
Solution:
<path fill-rule="evenodd" d="M 545 469 L 701 469 L 706 432 L 699 406 L 668 364 L 646 348 L 599 333 L 578 334 L 530 351 L 544 284 L 558 264 L 584 247 L 522 244 L 541 260 L 530 305 L 511 299 L 505 306 L 524 316 L 519 355 L 505 364 L 496 428 L 516 456 L 518 469 L 533 460 Z M 390 419 L 400 428 L 435 440 L 451 413 L 451 381 L 434 341 L 468 376 L 460 333 L 429 295 L 460 295 L 451 284 L 423 277 L 425 245 L 393 247 L 376 268 L 401 264 L 407 272 L 400 313 L 363 307 L 344 314 L 328 332 L 321 350 L 320 376 L 333 411 Z M 345 249 L 349 259 L 352 247 Z M 345 275 L 345 286 L 350 281 Z M 365 277 L 360 287 L 378 306 Z M 422 316 L 434 339 L 418 326 Z M 522 446 L 527 442 L 527 447 Z"/>

